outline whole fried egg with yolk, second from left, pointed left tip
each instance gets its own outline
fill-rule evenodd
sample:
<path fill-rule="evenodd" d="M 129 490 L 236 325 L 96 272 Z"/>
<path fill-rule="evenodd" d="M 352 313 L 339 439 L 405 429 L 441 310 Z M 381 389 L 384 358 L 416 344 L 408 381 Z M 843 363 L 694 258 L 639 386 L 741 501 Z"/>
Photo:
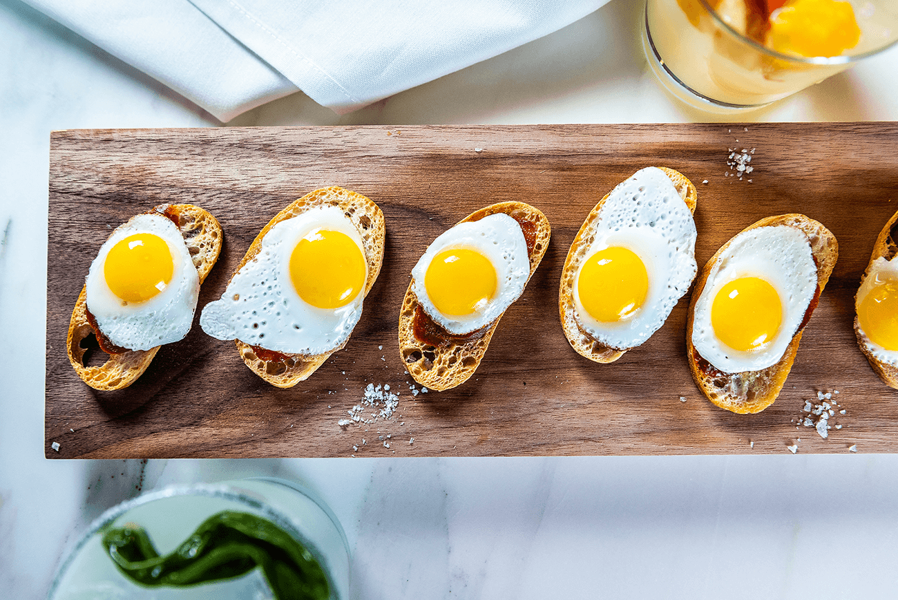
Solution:
<path fill-rule="evenodd" d="M 340 349 L 362 316 L 368 262 L 362 237 L 339 207 L 278 222 L 199 324 L 219 340 L 290 354 Z"/>

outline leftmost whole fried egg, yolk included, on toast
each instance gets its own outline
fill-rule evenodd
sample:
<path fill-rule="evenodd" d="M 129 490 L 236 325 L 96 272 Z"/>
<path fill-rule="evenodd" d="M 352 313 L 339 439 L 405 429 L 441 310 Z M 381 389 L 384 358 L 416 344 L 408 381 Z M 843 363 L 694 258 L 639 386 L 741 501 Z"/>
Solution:
<path fill-rule="evenodd" d="M 199 275 L 172 220 L 137 215 L 103 243 L 85 282 L 87 310 L 110 342 L 148 350 L 184 338 Z"/>

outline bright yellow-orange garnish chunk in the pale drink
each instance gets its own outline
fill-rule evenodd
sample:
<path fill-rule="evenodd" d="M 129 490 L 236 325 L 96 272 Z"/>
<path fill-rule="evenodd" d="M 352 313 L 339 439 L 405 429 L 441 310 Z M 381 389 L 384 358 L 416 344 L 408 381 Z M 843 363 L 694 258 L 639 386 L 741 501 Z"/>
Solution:
<path fill-rule="evenodd" d="M 847 2 L 794 0 L 771 15 L 770 46 L 783 54 L 836 57 L 858 40 L 860 28 Z"/>

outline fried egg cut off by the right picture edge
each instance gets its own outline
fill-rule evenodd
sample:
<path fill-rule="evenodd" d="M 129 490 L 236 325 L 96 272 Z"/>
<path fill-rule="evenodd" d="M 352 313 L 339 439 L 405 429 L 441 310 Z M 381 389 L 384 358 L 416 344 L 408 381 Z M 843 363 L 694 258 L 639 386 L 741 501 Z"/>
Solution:
<path fill-rule="evenodd" d="M 877 360 L 898 366 L 898 261 L 870 264 L 855 300 L 860 341 Z"/>

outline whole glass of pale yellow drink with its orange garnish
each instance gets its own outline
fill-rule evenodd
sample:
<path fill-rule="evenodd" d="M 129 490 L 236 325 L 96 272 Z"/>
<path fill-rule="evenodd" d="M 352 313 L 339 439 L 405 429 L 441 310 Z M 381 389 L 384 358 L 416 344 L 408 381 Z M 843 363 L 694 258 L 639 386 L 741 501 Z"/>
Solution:
<path fill-rule="evenodd" d="M 753 110 L 898 41 L 895 0 L 647 0 L 648 64 L 712 112 Z"/>

